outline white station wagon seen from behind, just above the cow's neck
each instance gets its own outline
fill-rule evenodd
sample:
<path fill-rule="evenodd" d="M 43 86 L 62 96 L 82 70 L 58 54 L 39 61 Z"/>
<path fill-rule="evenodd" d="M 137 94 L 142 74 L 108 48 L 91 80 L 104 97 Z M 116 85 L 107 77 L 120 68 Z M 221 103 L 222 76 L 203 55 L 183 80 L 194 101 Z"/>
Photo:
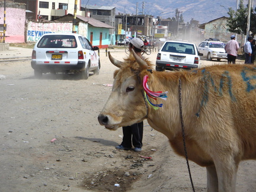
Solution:
<path fill-rule="evenodd" d="M 200 56 L 194 43 L 165 41 L 156 57 L 156 71 L 199 67 Z"/>

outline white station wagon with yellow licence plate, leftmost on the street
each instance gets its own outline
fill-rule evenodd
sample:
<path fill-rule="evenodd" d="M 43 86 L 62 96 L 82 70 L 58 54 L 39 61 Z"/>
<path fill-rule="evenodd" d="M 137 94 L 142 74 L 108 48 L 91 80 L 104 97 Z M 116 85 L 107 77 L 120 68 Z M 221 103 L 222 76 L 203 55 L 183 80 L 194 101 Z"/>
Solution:
<path fill-rule="evenodd" d="M 34 46 L 31 66 L 34 76 L 43 73 L 78 73 L 81 79 L 88 79 L 89 71 L 98 75 L 100 57 L 98 47 L 92 47 L 84 36 L 75 33 L 44 34 Z"/>

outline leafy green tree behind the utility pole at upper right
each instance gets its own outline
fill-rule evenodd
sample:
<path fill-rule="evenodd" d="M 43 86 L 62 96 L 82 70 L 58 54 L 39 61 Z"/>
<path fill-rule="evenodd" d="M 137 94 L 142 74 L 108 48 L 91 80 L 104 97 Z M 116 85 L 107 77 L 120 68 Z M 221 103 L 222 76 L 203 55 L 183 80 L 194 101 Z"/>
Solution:
<path fill-rule="evenodd" d="M 256 14 L 255 10 L 251 9 L 251 20 L 250 20 L 250 31 L 252 33 L 252 36 L 256 34 Z M 229 8 L 228 14 L 228 27 L 229 31 L 237 34 L 247 34 L 247 12 L 248 12 L 248 6 L 247 8 L 244 7 L 244 1 L 241 0 L 239 3 L 239 7 L 237 11 L 234 11 L 232 8 Z"/>

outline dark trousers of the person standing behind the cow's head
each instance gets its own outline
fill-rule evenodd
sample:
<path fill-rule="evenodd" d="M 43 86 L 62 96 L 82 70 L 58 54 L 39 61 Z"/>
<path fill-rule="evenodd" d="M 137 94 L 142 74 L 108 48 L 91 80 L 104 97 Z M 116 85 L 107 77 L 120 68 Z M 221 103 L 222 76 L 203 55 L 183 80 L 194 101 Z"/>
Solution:
<path fill-rule="evenodd" d="M 132 126 L 123 127 L 123 145 L 126 148 L 142 148 L 143 121 L 132 124 Z"/>

